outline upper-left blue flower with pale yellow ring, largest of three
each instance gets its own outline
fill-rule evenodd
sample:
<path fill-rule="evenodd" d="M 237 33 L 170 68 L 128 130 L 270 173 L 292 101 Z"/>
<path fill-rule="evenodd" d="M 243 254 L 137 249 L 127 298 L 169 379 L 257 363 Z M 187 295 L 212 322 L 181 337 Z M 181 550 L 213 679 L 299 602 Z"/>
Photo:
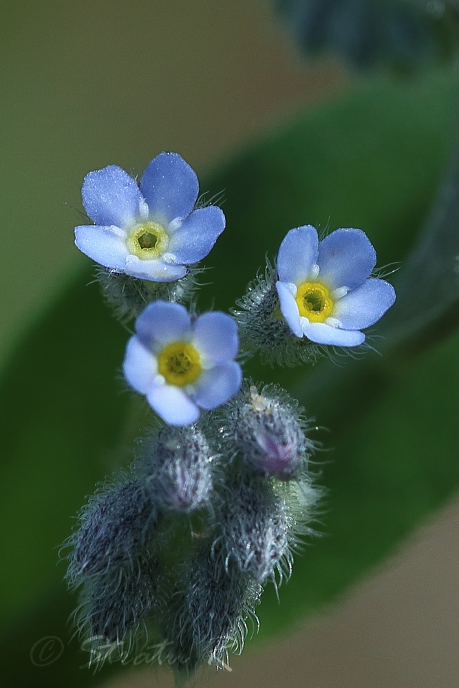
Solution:
<path fill-rule="evenodd" d="M 198 178 L 178 153 L 160 153 L 136 182 L 118 165 L 85 176 L 81 195 L 95 225 L 75 244 L 96 263 L 140 279 L 169 282 L 202 260 L 225 228 L 217 206 L 196 208 Z"/>

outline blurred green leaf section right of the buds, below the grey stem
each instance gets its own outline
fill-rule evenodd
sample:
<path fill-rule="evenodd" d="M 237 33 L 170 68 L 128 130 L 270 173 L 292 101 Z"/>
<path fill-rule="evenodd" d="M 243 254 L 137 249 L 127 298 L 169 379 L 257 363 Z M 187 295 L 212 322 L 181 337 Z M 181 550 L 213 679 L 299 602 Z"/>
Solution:
<path fill-rule="evenodd" d="M 457 491 L 458 347 L 456 334 L 411 365 L 356 361 L 297 386 L 335 447 L 323 457 L 328 513 L 324 537 L 295 559 L 280 608 L 272 591 L 264 599 L 263 634 L 321 610 Z"/>

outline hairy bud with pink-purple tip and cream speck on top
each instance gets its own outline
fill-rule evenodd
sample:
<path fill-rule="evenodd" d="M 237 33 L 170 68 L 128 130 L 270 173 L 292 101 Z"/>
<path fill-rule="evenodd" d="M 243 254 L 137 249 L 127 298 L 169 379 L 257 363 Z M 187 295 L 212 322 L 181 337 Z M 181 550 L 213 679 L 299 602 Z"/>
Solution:
<path fill-rule="evenodd" d="M 280 480 L 297 478 L 307 467 L 314 443 L 303 429 L 303 409 L 283 389 L 255 385 L 243 389 L 225 409 L 228 447 L 257 473 Z"/>

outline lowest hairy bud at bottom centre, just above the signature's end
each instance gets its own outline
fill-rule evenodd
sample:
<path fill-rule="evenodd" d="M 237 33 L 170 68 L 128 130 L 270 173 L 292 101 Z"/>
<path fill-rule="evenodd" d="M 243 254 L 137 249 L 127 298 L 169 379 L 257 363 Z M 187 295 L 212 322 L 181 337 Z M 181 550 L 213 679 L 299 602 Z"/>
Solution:
<path fill-rule="evenodd" d="M 222 667 L 228 650 L 242 651 L 247 621 L 257 623 L 261 585 L 205 541 L 182 566 L 179 587 L 166 622 L 175 668 L 189 673 L 203 661 Z"/>

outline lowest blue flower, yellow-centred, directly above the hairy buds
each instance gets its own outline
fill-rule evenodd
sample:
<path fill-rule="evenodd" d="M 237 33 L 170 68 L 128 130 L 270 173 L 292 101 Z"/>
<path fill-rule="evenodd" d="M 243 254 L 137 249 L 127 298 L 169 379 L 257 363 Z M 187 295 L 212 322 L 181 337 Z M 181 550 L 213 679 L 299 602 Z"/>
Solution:
<path fill-rule="evenodd" d="M 215 409 L 236 394 L 242 382 L 233 318 L 204 313 L 191 321 L 183 305 L 155 301 L 136 320 L 123 371 L 129 385 L 147 397 L 169 425 L 189 425 L 200 408 Z"/>

